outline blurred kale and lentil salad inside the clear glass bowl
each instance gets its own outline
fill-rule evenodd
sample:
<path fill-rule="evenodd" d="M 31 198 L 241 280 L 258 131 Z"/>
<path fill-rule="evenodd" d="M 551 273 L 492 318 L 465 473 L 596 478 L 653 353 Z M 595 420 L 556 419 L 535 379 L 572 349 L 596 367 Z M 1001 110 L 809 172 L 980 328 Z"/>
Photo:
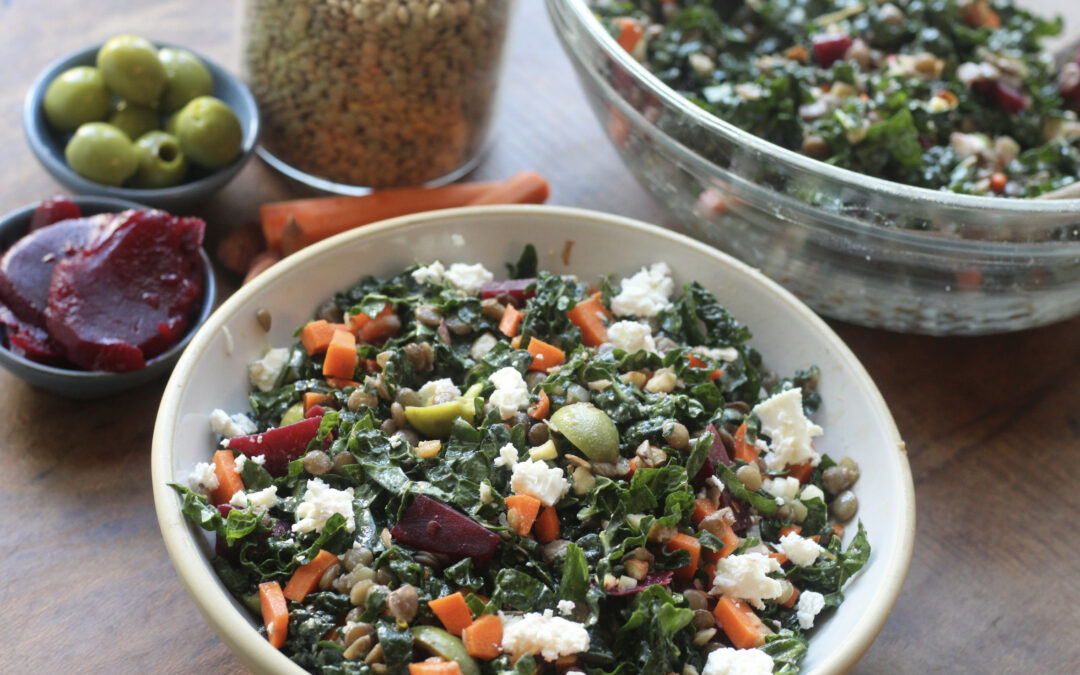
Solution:
<path fill-rule="evenodd" d="M 1012 0 L 591 0 L 619 44 L 713 114 L 859 173 L 1032 198 L 1080 174 L 1080 55 Z"/>

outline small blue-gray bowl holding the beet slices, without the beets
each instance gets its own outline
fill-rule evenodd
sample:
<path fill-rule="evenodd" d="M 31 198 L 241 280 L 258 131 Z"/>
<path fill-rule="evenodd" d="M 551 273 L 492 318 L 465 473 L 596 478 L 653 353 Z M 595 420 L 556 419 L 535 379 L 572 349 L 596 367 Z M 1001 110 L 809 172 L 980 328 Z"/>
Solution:
<path fill-rule="evenodd" d="M 116 213 L 129 208 L 146 208 L 141 204 L 106 197 L 76 197 L 71 201 L 79 204 L 84 216 L 98 213 Z M 26 229 L 30 225 L 30 217 L 33 215 L 36 207 L 37 204 L 25 206 L 0 218 L 0 253 L 6 251 L 26 233 Z M 166 351 L 147 361 L 146 368 L 130 373 L 103 373 L 57 368 L 24 359 L 9 350 L 2 341 L 0 341 L 0 365 L 35 387 L 70 399 L 100 399 L 111 396 L 112 394 L 118 394 L 168 375 L 172 373 L 173 366 L 176 365 L 176 360 L 180 357 L 184 348 L 191 341 L 191 336 L 195 334 L 199 326 L 210 316 L 211 310 L 214 309 L 214 297 L 216 295 L 214 270 L 211 267 L 210 256 L 206 255 L 206 252 L 200 248 L 199 253 L 203 259 L 203 295 L 200 300 L 199 312 L 191 321 L 191 325 L 188 326 L 184 337 Z M 3 328 L 0 327 L 0 330 L 3 330 Z"/>

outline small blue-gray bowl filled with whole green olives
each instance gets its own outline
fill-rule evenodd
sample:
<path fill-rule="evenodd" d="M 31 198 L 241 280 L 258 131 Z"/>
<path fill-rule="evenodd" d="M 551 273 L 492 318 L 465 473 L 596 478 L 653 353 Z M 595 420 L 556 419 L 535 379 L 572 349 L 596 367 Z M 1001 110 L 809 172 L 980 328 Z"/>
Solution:
<path fill-rule="evenodd" d="M 23 125 L 38 160 L 76 193 L 183 211 L 251 159 L 259 113 L 247 86 L 214 62 L 118 36 L 45 68 Z"/>

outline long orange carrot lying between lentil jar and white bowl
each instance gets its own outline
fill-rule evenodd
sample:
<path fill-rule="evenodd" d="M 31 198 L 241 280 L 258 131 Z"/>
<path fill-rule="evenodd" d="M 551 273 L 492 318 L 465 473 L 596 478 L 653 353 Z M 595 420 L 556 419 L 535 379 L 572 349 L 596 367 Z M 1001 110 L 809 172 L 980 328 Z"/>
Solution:
<path fill-rule="evenodd" d="M 438 188 L 376 190 L 364 197 L 319 197 L 269 202 L 259 207 L 262 234 L 270 251 L 281 248 L 281 235 L 292 218 L 306 244 L 346 230 L 421 211 L 464 206 L 501 183 L 460 183 Z"/>

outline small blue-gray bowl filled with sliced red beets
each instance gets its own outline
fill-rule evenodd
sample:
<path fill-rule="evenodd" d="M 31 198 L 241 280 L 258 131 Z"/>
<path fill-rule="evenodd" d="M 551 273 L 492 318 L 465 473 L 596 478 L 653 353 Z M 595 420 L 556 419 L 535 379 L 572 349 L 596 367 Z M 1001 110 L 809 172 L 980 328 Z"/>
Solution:
<path fill-rule="evenodd" d="M 205 222 L 56 197 L 0 219 L 0 365 L 76 399 L 172 370 L 214 306 Z"/>

